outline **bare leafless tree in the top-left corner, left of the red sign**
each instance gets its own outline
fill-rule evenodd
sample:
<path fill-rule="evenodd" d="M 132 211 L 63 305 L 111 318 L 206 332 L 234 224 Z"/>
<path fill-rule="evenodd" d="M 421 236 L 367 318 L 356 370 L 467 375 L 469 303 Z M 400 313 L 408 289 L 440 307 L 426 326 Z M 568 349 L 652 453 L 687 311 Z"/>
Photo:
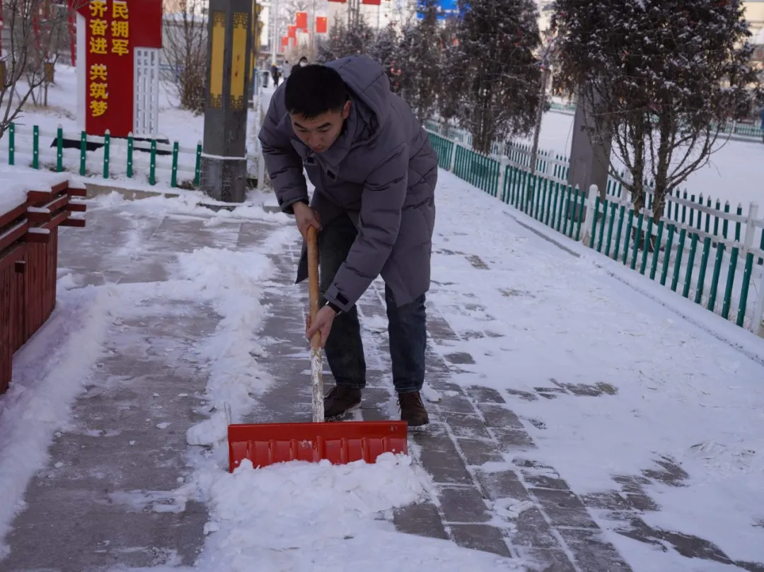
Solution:
<path fill-rule="evenodd" d="M 79 4 L 77 3 L 79 2 Z M 84 5 L 77 0 L 73 9 Z M 44 102 L 42 89 L 50 82 L 53 66 L 68 37 L 66 8 L 49 0 L 3 0 L 3 35 L 8 50 L 0 56 L 0 137 L 23 114 L 24 105 Z"/>

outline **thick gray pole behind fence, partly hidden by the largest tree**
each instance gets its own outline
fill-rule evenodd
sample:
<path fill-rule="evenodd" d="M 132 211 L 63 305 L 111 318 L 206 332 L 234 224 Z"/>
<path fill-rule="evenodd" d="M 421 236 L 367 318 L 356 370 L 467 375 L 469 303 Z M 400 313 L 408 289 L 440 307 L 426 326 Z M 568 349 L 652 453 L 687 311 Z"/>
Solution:
<path fill-rule="evenodd" d="M 605 196 L 607 190 L 607 173 L 610 168 L 611 141 L 607 143 L 593 143 L 586 128 L 594 128 L 594 109 L 598 98 L 585 96 L 583 88 L 578 94 L 578 102 L 573 119 L 573 141 L 571 142 L 570 170 L 568 172 L 568 185 L 588 192 L 591 185 L 597 185 L 600 196 Z M 575 217 L 574 217 L 575 218 Z"/>

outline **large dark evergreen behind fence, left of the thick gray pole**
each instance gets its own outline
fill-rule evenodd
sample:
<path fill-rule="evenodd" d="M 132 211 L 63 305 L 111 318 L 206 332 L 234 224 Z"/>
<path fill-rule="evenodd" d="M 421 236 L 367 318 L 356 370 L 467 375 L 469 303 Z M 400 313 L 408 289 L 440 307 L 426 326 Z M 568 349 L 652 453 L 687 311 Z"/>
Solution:
<path fill-rule="evenodd" d="M 475 150 L 529 134 L 539 105 L 539 11 L 534 0 L 459 0 L 461 20 L 448 69 L 461 93 L 461 124 Z M 455 85 L 454 80 L 458 79 Z"/>

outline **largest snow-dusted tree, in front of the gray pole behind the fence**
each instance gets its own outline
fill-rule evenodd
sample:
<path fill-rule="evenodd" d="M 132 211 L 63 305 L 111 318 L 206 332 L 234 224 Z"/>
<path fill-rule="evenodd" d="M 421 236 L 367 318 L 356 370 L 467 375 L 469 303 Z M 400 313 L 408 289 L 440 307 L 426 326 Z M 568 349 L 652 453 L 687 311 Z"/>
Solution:
<path fill-rule="evenodd" d="M 583 97 L 590 137 L 613 141 L 630 172 L 610 173 L 645 205 L 665 197 L 715 150 L 717 125 L 748 115 L 760 95 L 741 0 L 557 0 L 562 85 Z"/>

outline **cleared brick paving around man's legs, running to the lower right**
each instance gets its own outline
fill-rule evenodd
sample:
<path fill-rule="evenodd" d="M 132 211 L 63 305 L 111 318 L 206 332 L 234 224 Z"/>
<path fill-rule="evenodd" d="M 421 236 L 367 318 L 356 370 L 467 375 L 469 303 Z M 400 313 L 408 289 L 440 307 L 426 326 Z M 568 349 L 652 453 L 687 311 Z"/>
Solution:
<path fill-rule="evenodd" d="M 310 393 L 306 369 L 303 312 L 307 301 L 304 287 L 293 286 L 297 246 L 276 257 L 279 276 L 267 289 L 266 301 L 274 314 L 264 331 L 272 338 L 269 354 L 259 363 L 279 383 L 261 399 L 253 422 L 310 420 Z M 475 255 L 440 250 L 435 256 L 465 256 L 476 270 L 487 264 Z M 304 286 L 304 285 L 303 285 Z M 432 292 L 439 286 L 433 285 Z M 435 297 L 435 296 L 432 296 Z M 465 302 L 471 306 L 470 302 Z M 377 280 L 359 302 L 364 350 L 367 355 L 367 389 L 358 419 L 375 420 L 398 414 L 387 347 L 384 283 Z M 481 309 L 479 305 L 469 309 Z M 483 309 L 484 310 L 484 309 Z M 455 309 L 439 309 L 428 302 L 430 343 L 427 355 L 428 382 L 442 399 L 428 403 L 432 423 L 427 431 L 410 432 L 412 454 L 435 482 L 436 498 L 429 503 L 399 509 L 390 519 L 400 532 L 432 538 L 448 538 L 457 545 L 519 557 L 544 572 L 626 572 L 632 570 L 608 540 L 613 532 L 602 530 L 593 515 L 627 522 L 616 534 L 661 547 L 688 558 L 730 564 L 738 570 L 762 572 L 762 564 L 733 562 L 709 541 L 681 532 L 650 527 L 643 515 L 659 510 L 646 493 L 650 483 L 682 486 L 687 474 L 669 457 L 658 461 L 659 470 L 646 469 L 636 475 L 615 475 L 617 490 L 587 496 L 573 493 L 555 470 L 533 461 L 537 451 L 526 423 L 512 409 L 515 400 L 556 399 L 564 396 L 607 396 L 614 391 L 607 383 L 552 383 L 531 392 L 462 387 L 453 377 L 460 366 L 474 364 L 470 354 L 452 347 L 464 338 L 492 335 L 487 331 L 457 333 L 448 323 Z M 324 380 L 332 384 L 325 366 Z M 513 469 L 491 472 L 481 465 L 513 459 Z M 515 457 L 516 456 L 516 457 Z M 503 508 L 512 499 L 510 518 Z M 513 505 L 526 503 L 519 515 Z M 530 508 L 526 508 L 530 507 Z M 698 570 L 704 568 L 698 567 Z"/>

